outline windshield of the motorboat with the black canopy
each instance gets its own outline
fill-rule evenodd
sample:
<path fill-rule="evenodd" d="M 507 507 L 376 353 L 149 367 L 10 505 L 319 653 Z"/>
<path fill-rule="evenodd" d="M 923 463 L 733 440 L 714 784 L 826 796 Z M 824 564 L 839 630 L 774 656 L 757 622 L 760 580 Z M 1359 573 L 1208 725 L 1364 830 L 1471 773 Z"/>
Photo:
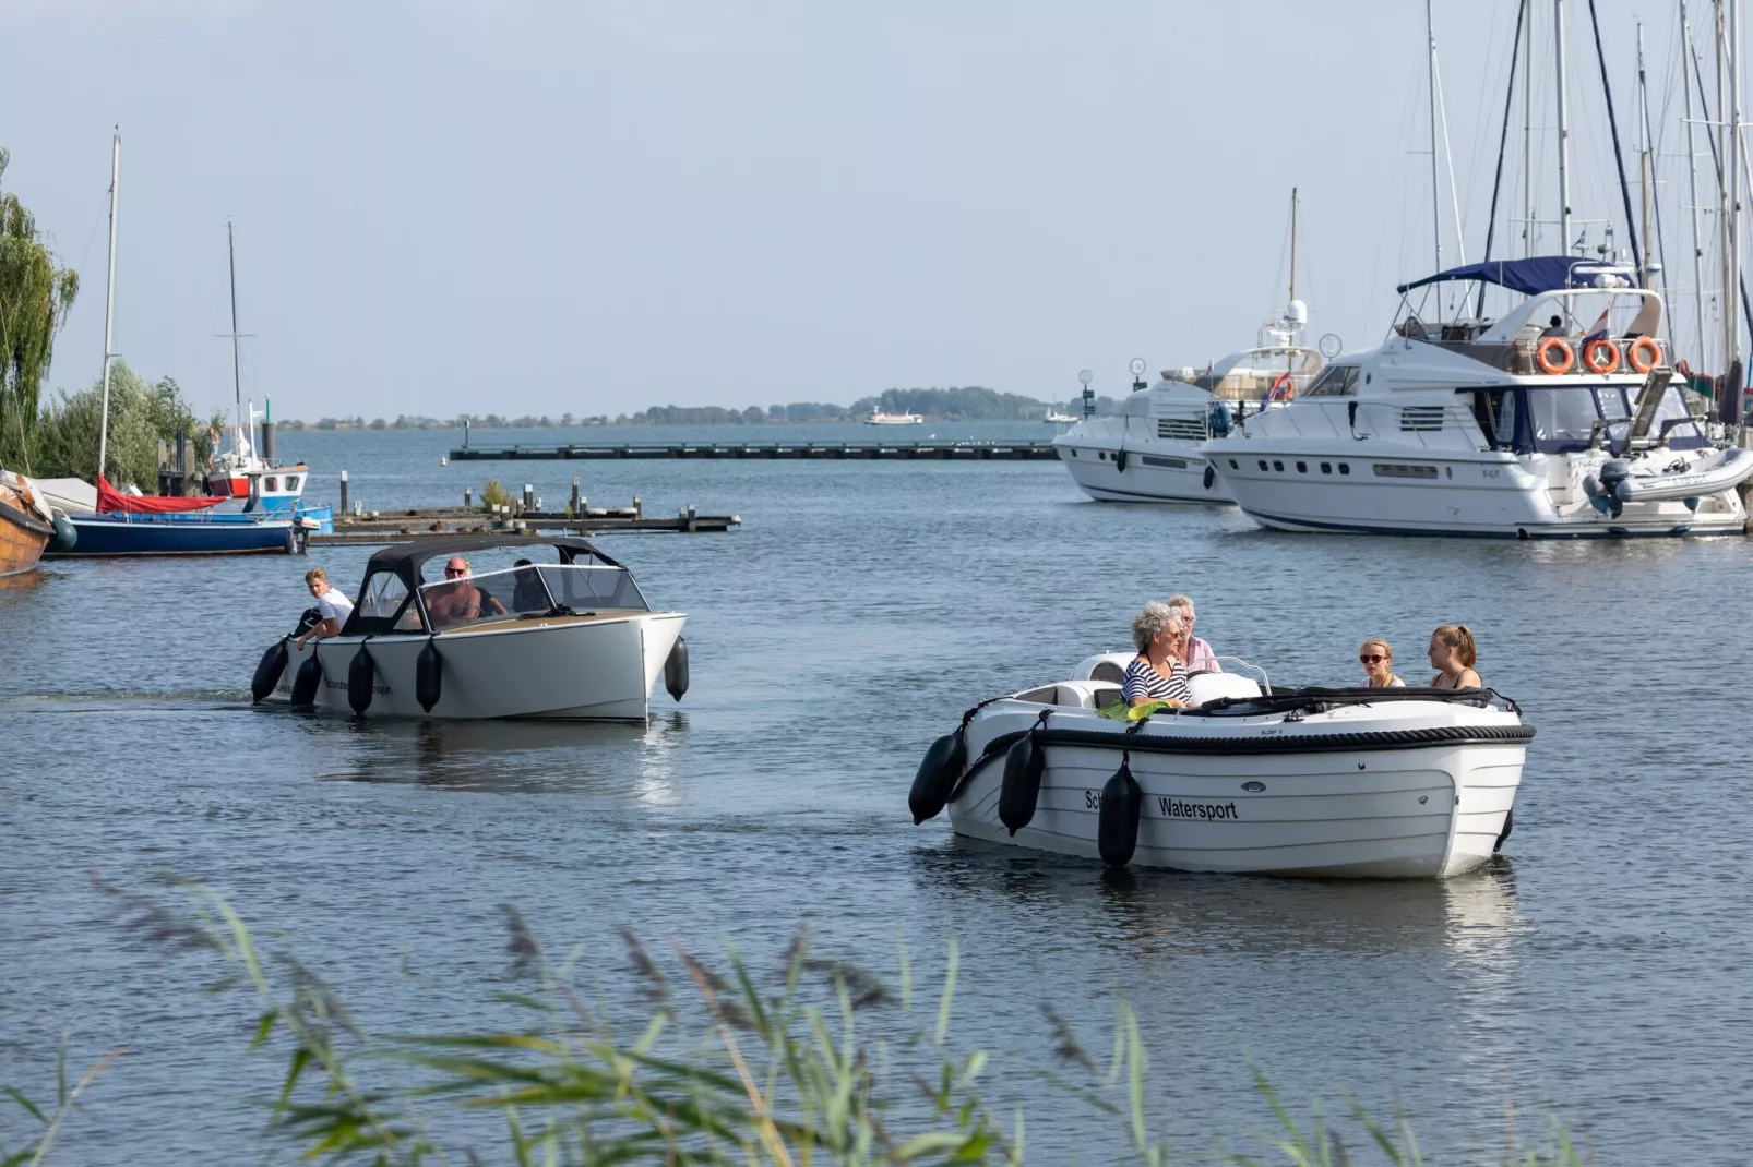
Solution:
<path fill-rule="evenodd" d="M 433 627 L 598 612 L 650 612 L 626 568 L 521 564 L 421 587 Z"/>

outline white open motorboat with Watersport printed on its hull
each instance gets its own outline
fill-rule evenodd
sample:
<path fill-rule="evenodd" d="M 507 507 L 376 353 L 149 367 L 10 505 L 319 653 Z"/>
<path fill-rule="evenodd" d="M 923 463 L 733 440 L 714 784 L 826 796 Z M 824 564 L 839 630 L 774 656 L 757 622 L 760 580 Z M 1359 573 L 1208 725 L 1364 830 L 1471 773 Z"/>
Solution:
<path fill-rule="evenodd" d="M 1366 878 L 1462 874 L 1509 834 L 1534 729 L 1490 689 L 1196 673 L 1194 708 L 1097 715 L 1129 659 L 969 710 L 920 762 L 915 824 L 947 806 L 957 834 L 1110 866 Z"/>

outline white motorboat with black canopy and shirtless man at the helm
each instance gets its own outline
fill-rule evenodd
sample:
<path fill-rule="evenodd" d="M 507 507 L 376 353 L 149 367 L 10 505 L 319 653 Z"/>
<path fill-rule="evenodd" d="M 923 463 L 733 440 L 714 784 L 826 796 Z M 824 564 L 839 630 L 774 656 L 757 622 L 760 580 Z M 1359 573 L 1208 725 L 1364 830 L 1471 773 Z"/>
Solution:
<path fill-rule="evenodd" d="M 451 555 L 540 561 L 428 584 L 422 564 Z M 468 605 L 447 591 L 458 587 L 473 589 Z M 652 612 L 633 573 L 584 540 L 401 543 L 372 555 L 354 605 L 340 636 L 272 645 L 254 699 L 372 717 L 643 722 L 659 676 L 677 701 L 687 690 L 687 617 Z"/>

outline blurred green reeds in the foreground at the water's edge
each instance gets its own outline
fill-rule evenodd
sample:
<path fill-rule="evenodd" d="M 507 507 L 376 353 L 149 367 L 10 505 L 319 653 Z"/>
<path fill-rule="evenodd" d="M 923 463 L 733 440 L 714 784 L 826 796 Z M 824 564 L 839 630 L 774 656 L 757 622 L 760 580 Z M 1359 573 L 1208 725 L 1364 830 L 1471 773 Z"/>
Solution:
<path fill-rule="evenodd" d="M 1175 1086 L 1152 1081 L 1138 1020 L 1115 1001 L 1111 1043 L 1085 1046 L 1045 1002 L 1040 1034 L 1052 1058 L 1024 1060 L 962 1050 L 954 1039 L 957 948 L 945 950 L 934 985 L 915 980 L 905 943 L 896 972 L 824 958 L 805 930 L 777 962 L 735 946 L 706 960 L 671 943 L 649 948 L 621 927 L 614 967 L 584 967 L 584 946 L 550 962 L 522 915 L 501 904 L 503 971 L 486 990 L 503 1025 L 477 1032 L 394 1034 L 351 1011 L 338 990 L 289 948 L 272 951 L 212 888 L 170 878 L 147 895 L 93 874 L 112 920 L 135 944 L 181 951 L 219 976 L 207 992 L 231 1002 L 247 1050 L 284 1064 L 273 1099 L 261 1099 L 263 1155 L 394 1163 L 1026 1163 L 1040 1132 L 1073 1114 L 1111 1132 L 1113 1162 L 1166 1167 L 1159 1134 L 1175 1113 Z M 580 981 L 594 974 L 594 988 Z M 408 992 L 424 978 L 412 976 Z M 165 992 L 175 992 L 167 981 Z M 1034 1013 L 1034 1011 L 1029 1011 Z M 419 1009 L 417 1015 L 431 1015 Z M 1018 1015 L 1018 1020 L 1022 1015 Z M 1026 1023 L 1026 1022 L 1024 1022 Z M 244 1046 L 244 1041 L 238 1041 Z M 53 1097 L 33 1100 L 0 1083 L 0 1163 L 47 1163 L 77 1109 L 102 1106 L 102 1079 L 128 1072 L 126 1050 L 96 1058 L 68 1086 L 67 1043 Z M 1185 1071 L 1171 1071 L 1169 1078 Z M 1402 1114 L 1378 1121 L 1346 1099 L 1327 1120 L 1311 1099 L 1294 1116 L 1253 1067 L 1257 1114 L 1276 1127 L 1225 1130 L 1211 1116 L 1211 1146 L 1190 1162 L 1352 1167 L 1423 1163 Z M 1052 1102 L 1013 1099 L 1029 1083 Z M 95 1086 L 98 1086 L 95 1090 Z M 82 1102 L 88 1097 L 91 1100 Z M 1527 1142 L 1516 1118 L 1487 1135 L 1494 1160 L 1522 1167 L 1578 1167 L 1592 1160 L 1557 1121 Z M 18 1146 L 19 1128 L 26 1142 Z M 1231 1146 L 1243 1141 L 1250 1149 Z M 1187 1158 L 1182 1148 L 1175 1158 Z M 1034 1151 L 1036 1162 L 1055 1158 Z M 1469 1162 L 1487 1162 L 1469 1156 Z"/>

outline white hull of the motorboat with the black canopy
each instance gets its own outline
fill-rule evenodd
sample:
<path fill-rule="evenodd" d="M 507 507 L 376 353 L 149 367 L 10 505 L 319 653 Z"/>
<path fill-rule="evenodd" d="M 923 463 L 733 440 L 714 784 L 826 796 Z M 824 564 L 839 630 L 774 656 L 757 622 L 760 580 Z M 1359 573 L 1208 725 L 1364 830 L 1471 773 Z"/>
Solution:
<path fill-rule="evenodd" d="M 370 638 L 377 683 L 368 717 L 542 717 L 643 722 L 649 699 L 685 615 L 635 612 L 554 617 L 424 634 Z M 415 699 L 415 664 L 435 640 L 444 655 L 438 703 L 428 713 Z M 287 666 L 268 701 L 291 701 L 293 680 L 310 652 L 323 662 L 316 708 L 352 713 L 347 671 L 361 638 L 335 636 L 303 650 L 287 641 Z"/>

